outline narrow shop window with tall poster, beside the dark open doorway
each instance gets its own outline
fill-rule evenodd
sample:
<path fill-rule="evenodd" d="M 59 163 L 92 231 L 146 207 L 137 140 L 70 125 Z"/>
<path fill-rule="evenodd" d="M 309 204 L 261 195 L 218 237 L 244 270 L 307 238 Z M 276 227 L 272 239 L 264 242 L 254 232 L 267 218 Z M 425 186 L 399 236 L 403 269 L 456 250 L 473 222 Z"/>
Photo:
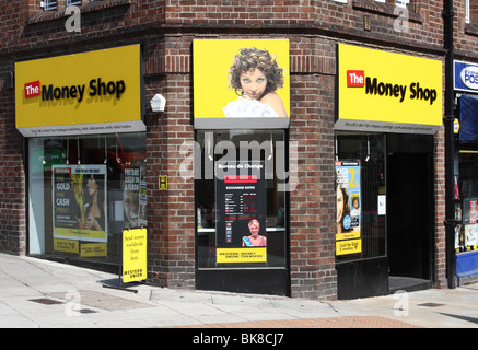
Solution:
<path fill-rule="evenodd" d="M 384 256 L 384 136 L 340 133 L 336 142 L 337 260 Z"/>

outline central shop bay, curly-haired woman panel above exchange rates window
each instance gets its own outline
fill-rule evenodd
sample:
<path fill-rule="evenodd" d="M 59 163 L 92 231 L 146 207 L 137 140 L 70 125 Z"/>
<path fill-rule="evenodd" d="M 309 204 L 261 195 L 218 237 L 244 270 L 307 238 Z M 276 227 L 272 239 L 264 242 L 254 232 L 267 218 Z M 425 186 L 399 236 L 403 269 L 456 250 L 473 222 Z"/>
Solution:
<path fill-rule="evenodd" d="M 197 39 L 193 58 L 196 288 L 289 295 L 289 40 Z"/>

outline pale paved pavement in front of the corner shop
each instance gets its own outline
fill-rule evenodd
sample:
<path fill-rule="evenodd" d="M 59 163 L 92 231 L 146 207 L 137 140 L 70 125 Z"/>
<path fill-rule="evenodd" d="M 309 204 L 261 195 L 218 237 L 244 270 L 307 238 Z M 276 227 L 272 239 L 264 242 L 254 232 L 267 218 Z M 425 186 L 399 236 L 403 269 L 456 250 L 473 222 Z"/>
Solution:
<path fill-rule="evenodd" d="M 117 282 L 117 275 L 0 253 L 0 327 L 195 331 L 199 328 L 222 328 L 222 331 L 232 328 L 478 328 L 478 284 L 324 302 L 173 290 L 144 283 L 110 288 Z"/>

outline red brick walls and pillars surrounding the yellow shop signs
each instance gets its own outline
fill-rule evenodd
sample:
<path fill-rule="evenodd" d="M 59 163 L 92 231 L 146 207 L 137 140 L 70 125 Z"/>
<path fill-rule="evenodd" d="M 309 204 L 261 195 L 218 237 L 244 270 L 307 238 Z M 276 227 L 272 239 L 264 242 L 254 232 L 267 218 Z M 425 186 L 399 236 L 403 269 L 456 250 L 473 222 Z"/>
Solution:
<path fill-rule="evenodd" d="M 410 0 L 408 32 L 387 0 L 104 0 L 83 1 L 81 33 L 68 33 L 65 0 L 44 12 L 39 0 L 0 5 L 0 250 L 25 254 L 27 201 L 24 139 L 15 130 L 14 62 L 39 57 L 142 45 L 145 101 L 161 92 L 163 114 L 147 107 L 150 281 L 195 287 L 194 182 L 179 176 L 194 140 L 191 126 L 194 38 L 288 38 L 291 62 L 290 140 L 298 141 L 299 185 L 290 194 L 291 296 L 337 296 L 335 269 L 334 121 L 336 45 L 349 43 L 444 60 L 442 1 Z M 456 1 L 457 55 L 477 60 L 476 31 Z M 476 18 L 474 10 L 473 19 Z M 405 19 L 406 20 L 406 19 Z M 370 21 L 370 22 L 368 22 Z M 475 21 L 475 20 L 473 20 Z M 370 23 L 370 30 L 365 28 Z M 476 23 L 478 24 L 478 23 Z M 401 25 L 401 27 L 400 27 Z M 159 190 L 159 175 L 168 190 Z M 444 138 L 435 136 L 436 287 L 446 285 Z"/>

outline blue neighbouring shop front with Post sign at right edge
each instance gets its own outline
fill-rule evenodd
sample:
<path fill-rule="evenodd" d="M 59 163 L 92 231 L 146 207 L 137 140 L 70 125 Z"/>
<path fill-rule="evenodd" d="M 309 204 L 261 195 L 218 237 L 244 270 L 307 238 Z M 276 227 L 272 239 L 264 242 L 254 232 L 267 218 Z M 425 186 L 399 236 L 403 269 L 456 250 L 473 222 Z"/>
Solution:
<path fill-rule="evenodd" d="M 454 62 L 455 253 L 458 285 L 478 280 L 478 65 Z"/>

